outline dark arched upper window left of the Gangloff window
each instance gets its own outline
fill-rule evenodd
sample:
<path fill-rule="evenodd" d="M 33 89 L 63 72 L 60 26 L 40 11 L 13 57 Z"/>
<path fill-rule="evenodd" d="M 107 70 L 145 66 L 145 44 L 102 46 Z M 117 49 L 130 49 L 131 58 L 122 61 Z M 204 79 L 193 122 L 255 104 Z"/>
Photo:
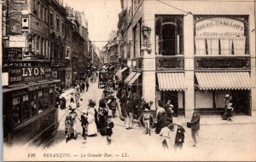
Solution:
<path fill-rule="evenodd" d="M 183 55 L 183 16 L 155 16 L 156 55 Z"/>

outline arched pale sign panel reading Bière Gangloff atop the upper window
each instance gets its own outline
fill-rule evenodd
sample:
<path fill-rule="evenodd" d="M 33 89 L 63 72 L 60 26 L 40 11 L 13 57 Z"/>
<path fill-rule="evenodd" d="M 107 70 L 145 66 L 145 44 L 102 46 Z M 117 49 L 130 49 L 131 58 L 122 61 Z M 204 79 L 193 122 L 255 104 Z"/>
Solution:
<path fill-rule="evenodd" d="M 226 17 L 199 20 L 195 24 L 195 36 L 200 38 L 230 38 L 244 36 L 244 22 Z"/>

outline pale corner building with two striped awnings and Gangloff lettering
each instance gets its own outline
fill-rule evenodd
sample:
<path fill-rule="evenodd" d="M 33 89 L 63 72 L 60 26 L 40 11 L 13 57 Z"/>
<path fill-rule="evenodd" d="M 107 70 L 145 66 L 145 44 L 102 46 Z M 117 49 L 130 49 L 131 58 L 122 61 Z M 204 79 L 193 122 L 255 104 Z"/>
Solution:
<path fill-rule="evenodd" d="M 123 3 L 127 23 L 121 26 L 125 41 L 121 50 L 131 59 L 130 67 L 136 67 L 127 81 L 134 87 L 131 90 L 154 101 L 152 108 L 171 99 L 174 113 L 187 117 L 194 109 L 224 112 L 226 94 L 232 95 L 236 113 L 252 114 L 256 109 L 253 2 Z"/>

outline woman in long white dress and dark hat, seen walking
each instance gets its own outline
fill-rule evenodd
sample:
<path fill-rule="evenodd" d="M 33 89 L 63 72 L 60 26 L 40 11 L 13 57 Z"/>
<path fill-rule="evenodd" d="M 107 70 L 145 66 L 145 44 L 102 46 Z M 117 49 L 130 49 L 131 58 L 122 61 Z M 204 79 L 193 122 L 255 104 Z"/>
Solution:
<path fill-rule="evenodd" d="M 95 122 L 95 104 L 90 101 L 88 106 L 88 136 L 96 136 L 98 130 Z"/>

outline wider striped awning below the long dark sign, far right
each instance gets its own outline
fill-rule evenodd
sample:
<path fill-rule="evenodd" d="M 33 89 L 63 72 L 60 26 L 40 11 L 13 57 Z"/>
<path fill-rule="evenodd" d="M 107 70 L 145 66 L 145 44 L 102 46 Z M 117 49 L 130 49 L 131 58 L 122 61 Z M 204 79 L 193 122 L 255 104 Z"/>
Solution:
<path fill-rule="evenodd" d="M 250 90 L 249 72 L 195 72 L 200 90 Z"/>

